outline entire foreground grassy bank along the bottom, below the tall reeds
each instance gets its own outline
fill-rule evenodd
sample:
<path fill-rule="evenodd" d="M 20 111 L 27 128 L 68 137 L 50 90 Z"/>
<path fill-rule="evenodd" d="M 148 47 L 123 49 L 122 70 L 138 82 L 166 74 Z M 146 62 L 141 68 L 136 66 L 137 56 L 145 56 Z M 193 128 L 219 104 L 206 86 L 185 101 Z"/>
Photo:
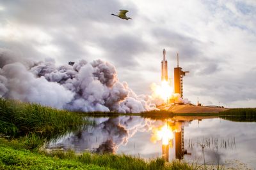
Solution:
<path fill-rule="evenodd" d="M 19 141 L 0 138 L 0 169 L 199 169 L 184 162 L 146 161 L 127 155 L 68 152 L 38 152 L 22 148 Z"/>

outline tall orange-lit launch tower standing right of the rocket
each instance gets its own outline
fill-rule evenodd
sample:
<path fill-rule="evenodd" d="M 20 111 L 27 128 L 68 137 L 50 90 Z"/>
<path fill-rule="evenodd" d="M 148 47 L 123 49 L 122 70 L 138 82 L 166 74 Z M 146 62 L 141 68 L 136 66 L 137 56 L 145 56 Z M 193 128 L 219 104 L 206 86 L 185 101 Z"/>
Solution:
<path fill-rule="evenodd" d="M 163 67 L 163 61 L 162 61 L 162 67 Z M 177 53 L 177 67 L 174 68 L 174 92 L 179 93 L 182 99 L 183 99 L 183 80 L 182 79 L 184 76 L 186 76 L 186 73 L 189 73 L 189 71 L 182 71 L 182 67 L 179 67 L 179 53 Z"/>

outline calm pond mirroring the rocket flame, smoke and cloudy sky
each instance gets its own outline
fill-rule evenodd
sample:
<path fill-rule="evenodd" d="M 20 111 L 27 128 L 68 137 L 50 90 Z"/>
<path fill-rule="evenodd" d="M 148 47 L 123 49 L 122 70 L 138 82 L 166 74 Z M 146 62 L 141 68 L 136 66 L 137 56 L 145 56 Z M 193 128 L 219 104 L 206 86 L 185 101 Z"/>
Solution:
<path fill-rule="evenodd" d="M 256 167 L 256 122 L 214 117 L 89 118 L 95 125 L 51 141 L 46 148 Z"/>

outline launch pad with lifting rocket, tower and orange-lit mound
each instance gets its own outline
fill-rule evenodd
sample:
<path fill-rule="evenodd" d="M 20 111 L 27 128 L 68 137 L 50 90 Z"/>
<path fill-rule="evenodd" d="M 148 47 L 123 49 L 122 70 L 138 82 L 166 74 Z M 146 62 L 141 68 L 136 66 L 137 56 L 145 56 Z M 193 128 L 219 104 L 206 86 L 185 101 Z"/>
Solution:
<path fill-rule="evenodd" d="M 189 71 L 183 71 L 182 67 L 179 66 L 179 53 L 177 53 L 177 67 L 174 67 L 173 71 L 174 88 L 171 93 L 168 88 L 164 85 L 170 82 L 168 80 L 168 61 L 166 59 L 166 50 L 163 49 L 163 60 L 161 61 L 161 81 L 162 90 L 164 95 L 161 98 L 164 100 L 162 105 L 157 106 L 159 110 L 171 111 L 172 113 L 219 113 L 220 111 L 225 111 L 227 108 L 220 106 L 202 106 L 197 99 L 197 105 L 191 104 L 188 99 L 184 99 L 183 95 L 183 78 Z M 164 84 L 165 83 L 165 84 Z M 172 87 L 169 87 L 169 89 Z"/>

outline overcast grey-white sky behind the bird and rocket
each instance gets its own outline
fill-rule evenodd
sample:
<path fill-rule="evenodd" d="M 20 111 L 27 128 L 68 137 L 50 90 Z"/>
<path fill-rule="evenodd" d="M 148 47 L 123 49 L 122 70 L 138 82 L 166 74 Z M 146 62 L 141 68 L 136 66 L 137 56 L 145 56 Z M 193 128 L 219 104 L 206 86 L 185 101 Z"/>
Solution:
<path fill-rule="evenodd" d="M 111 15 L 129 10 L 122 20 Z M 0 48 L 56 64 L 106 60 L 136 94 L 168 77 L 184 77 L 184 97 L 196 104 L 256 107 L 256 1 L 0 0 Z"/>

